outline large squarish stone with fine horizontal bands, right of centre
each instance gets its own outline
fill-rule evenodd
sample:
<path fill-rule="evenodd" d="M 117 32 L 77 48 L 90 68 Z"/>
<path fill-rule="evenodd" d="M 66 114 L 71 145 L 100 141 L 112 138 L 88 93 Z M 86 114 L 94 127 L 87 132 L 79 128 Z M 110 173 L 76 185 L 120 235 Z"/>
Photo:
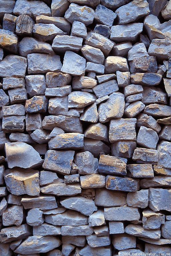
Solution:
<path fill-rule="evenodd" d="M 125 118 L 110 121 L 109 141 L 136 141 L 135 124 L 136 118 Z"/>

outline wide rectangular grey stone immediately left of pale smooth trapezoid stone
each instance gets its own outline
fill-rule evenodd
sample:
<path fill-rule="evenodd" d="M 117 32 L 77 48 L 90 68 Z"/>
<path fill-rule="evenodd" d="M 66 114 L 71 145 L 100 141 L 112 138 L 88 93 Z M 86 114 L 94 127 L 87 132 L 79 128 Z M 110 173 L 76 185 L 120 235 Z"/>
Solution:
<path fill-rule="evenodd" d="M 32 53 L 27 55 L 28 74 L 59 72 L 62 64 L 59 55 Z"/>

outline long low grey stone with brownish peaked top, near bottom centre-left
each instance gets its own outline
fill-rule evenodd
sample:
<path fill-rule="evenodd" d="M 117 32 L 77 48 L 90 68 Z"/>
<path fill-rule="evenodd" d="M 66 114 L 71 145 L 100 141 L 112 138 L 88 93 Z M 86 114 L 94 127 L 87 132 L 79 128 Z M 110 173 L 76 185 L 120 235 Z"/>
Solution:
<path fill-rule="evenodd" d="M 67 210 L 59 214 L 46 215 L 45 221 L 57 226 L 80 226 L 88 224 L 88 217 L 79 212 Z"/>

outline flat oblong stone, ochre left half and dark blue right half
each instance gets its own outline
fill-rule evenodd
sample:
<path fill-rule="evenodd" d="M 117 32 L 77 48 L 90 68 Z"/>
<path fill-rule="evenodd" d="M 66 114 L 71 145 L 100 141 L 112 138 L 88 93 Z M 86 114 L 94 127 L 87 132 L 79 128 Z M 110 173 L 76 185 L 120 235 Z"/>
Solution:
<path fill-rule="evenodd" d="M 155 73 L 133 73 L 131 74 L 131 83 L 148 86 L 158 85 L 162 80 L 162 75 Z"/>

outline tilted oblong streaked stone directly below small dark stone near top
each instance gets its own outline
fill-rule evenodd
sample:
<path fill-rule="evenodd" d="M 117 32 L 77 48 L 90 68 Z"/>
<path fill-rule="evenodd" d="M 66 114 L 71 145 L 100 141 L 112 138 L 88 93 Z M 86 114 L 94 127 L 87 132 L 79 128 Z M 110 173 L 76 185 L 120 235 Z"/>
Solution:
<path fill-rule="evenodd" d="M 93 32 L 88 33 L 85 44 L 100 49 L 106 55 L 114 46 L 114 43 L 108 38 Z"/>

